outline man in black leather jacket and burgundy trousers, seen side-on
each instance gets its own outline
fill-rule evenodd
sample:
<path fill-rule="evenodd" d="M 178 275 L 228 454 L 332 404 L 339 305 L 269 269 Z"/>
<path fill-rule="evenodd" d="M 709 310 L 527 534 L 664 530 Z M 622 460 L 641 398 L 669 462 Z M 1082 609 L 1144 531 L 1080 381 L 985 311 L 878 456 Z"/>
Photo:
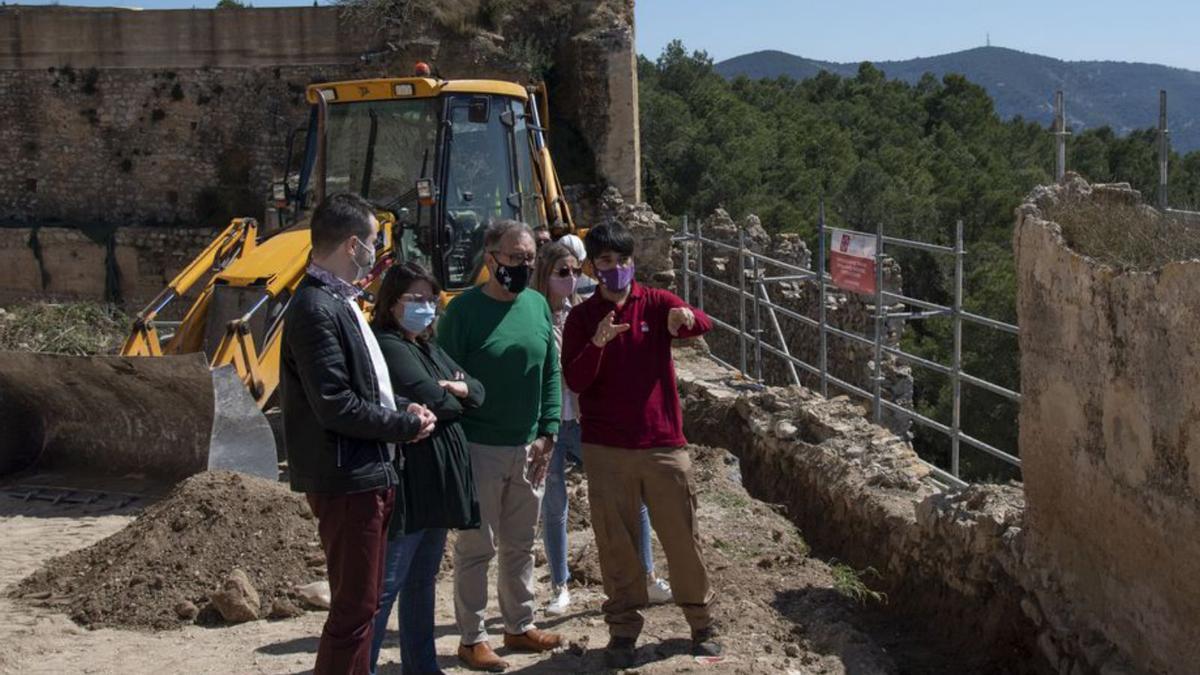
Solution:
<path fill-rule="evenodd" d="M 436 418 L 395 399 L 355 301 L 353 282 L 374 265 L 371 204 L 334 195 L 310 227 L 312 261 L 283 324 L 283 437 L 292 489 L 317 515 L 332 592 L 316 673 L 366 675 L 397 484 L 394 444 L 428 436 Z"/>

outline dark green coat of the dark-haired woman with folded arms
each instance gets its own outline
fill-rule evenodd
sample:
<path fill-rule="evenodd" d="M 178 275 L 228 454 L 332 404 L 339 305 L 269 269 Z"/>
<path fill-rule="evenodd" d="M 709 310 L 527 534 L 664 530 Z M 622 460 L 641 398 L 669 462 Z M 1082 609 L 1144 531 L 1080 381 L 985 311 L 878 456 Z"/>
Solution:
<path fill-rule="evenodd" d="M 396 453 L 400 488 L 389 534 L 426 527 L 479 527 L 470 453 L 458 419 L 463 411 L 484 402 L 484 386 L 431 341 L 414 342 L 396 331 L 379 331 L 377 336 L 396 396 L 428 407 L 438 418 L 428 438 L 406 443 Z M 466 399 L 438 386 L 439 380 L 455 380 L 456 372 L 464 376 Z"/>

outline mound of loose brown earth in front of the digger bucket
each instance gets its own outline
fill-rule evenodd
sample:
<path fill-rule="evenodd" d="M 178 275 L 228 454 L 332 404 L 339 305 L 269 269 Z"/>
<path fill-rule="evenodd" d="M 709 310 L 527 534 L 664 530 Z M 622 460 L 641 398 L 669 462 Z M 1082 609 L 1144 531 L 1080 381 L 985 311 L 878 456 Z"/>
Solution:
<path fill-rule="evenodd" d="M 258 592 L 259 616 L 272 614 L 276 601 L 294 601 L 294 585 L 324 574 L 302 496 L 240 473 L 199 473 L 116 534 L 50 560 L 11 595 L 88 627 L 168 629 L 188 616 L 221 622 L 211 597 L 234 569 Z M 186 603 L 198 614 L 178 610 Z"/>

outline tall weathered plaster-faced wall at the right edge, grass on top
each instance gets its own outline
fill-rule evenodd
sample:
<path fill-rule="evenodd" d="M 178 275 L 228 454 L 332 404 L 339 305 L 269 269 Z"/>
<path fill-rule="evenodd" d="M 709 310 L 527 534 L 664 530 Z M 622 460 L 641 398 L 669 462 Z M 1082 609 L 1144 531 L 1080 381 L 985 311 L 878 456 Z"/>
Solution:
<path fill-rule="evenodd" d="M 1147 671 L 1194 673 L 1200 261 L 1129 271 L 1082 256 L 1046 215 L 1072 198 L 1141 201 L 1076 179 L 1016 214 L 1028 565 L 1058 572 L 1063 620 L 1097 644 Z"/>

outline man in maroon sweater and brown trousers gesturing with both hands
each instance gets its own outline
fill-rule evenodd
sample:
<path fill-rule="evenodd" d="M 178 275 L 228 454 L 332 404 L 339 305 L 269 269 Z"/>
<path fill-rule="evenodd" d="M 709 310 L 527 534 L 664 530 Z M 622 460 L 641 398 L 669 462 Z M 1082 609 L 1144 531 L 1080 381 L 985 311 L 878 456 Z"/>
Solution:
<path fill-rule="evenodd" d="M 634 282 L 634 238 L 620 225 L 584 240 L 600 286 L 571 310 L 563 330 L 563 372 L 580 394 L 583 465 L 600 552 L 611 639 L 610 668 L 635 662 L 646 607 L 638 555 L 641 504 L 662 543 L 671 589 L 691 627 L 692 653 L 716 656 L 713 591 L 700 550 L 691 459 L 671 342 L 703 335 L 713 322 L 673 293 Z"/>

